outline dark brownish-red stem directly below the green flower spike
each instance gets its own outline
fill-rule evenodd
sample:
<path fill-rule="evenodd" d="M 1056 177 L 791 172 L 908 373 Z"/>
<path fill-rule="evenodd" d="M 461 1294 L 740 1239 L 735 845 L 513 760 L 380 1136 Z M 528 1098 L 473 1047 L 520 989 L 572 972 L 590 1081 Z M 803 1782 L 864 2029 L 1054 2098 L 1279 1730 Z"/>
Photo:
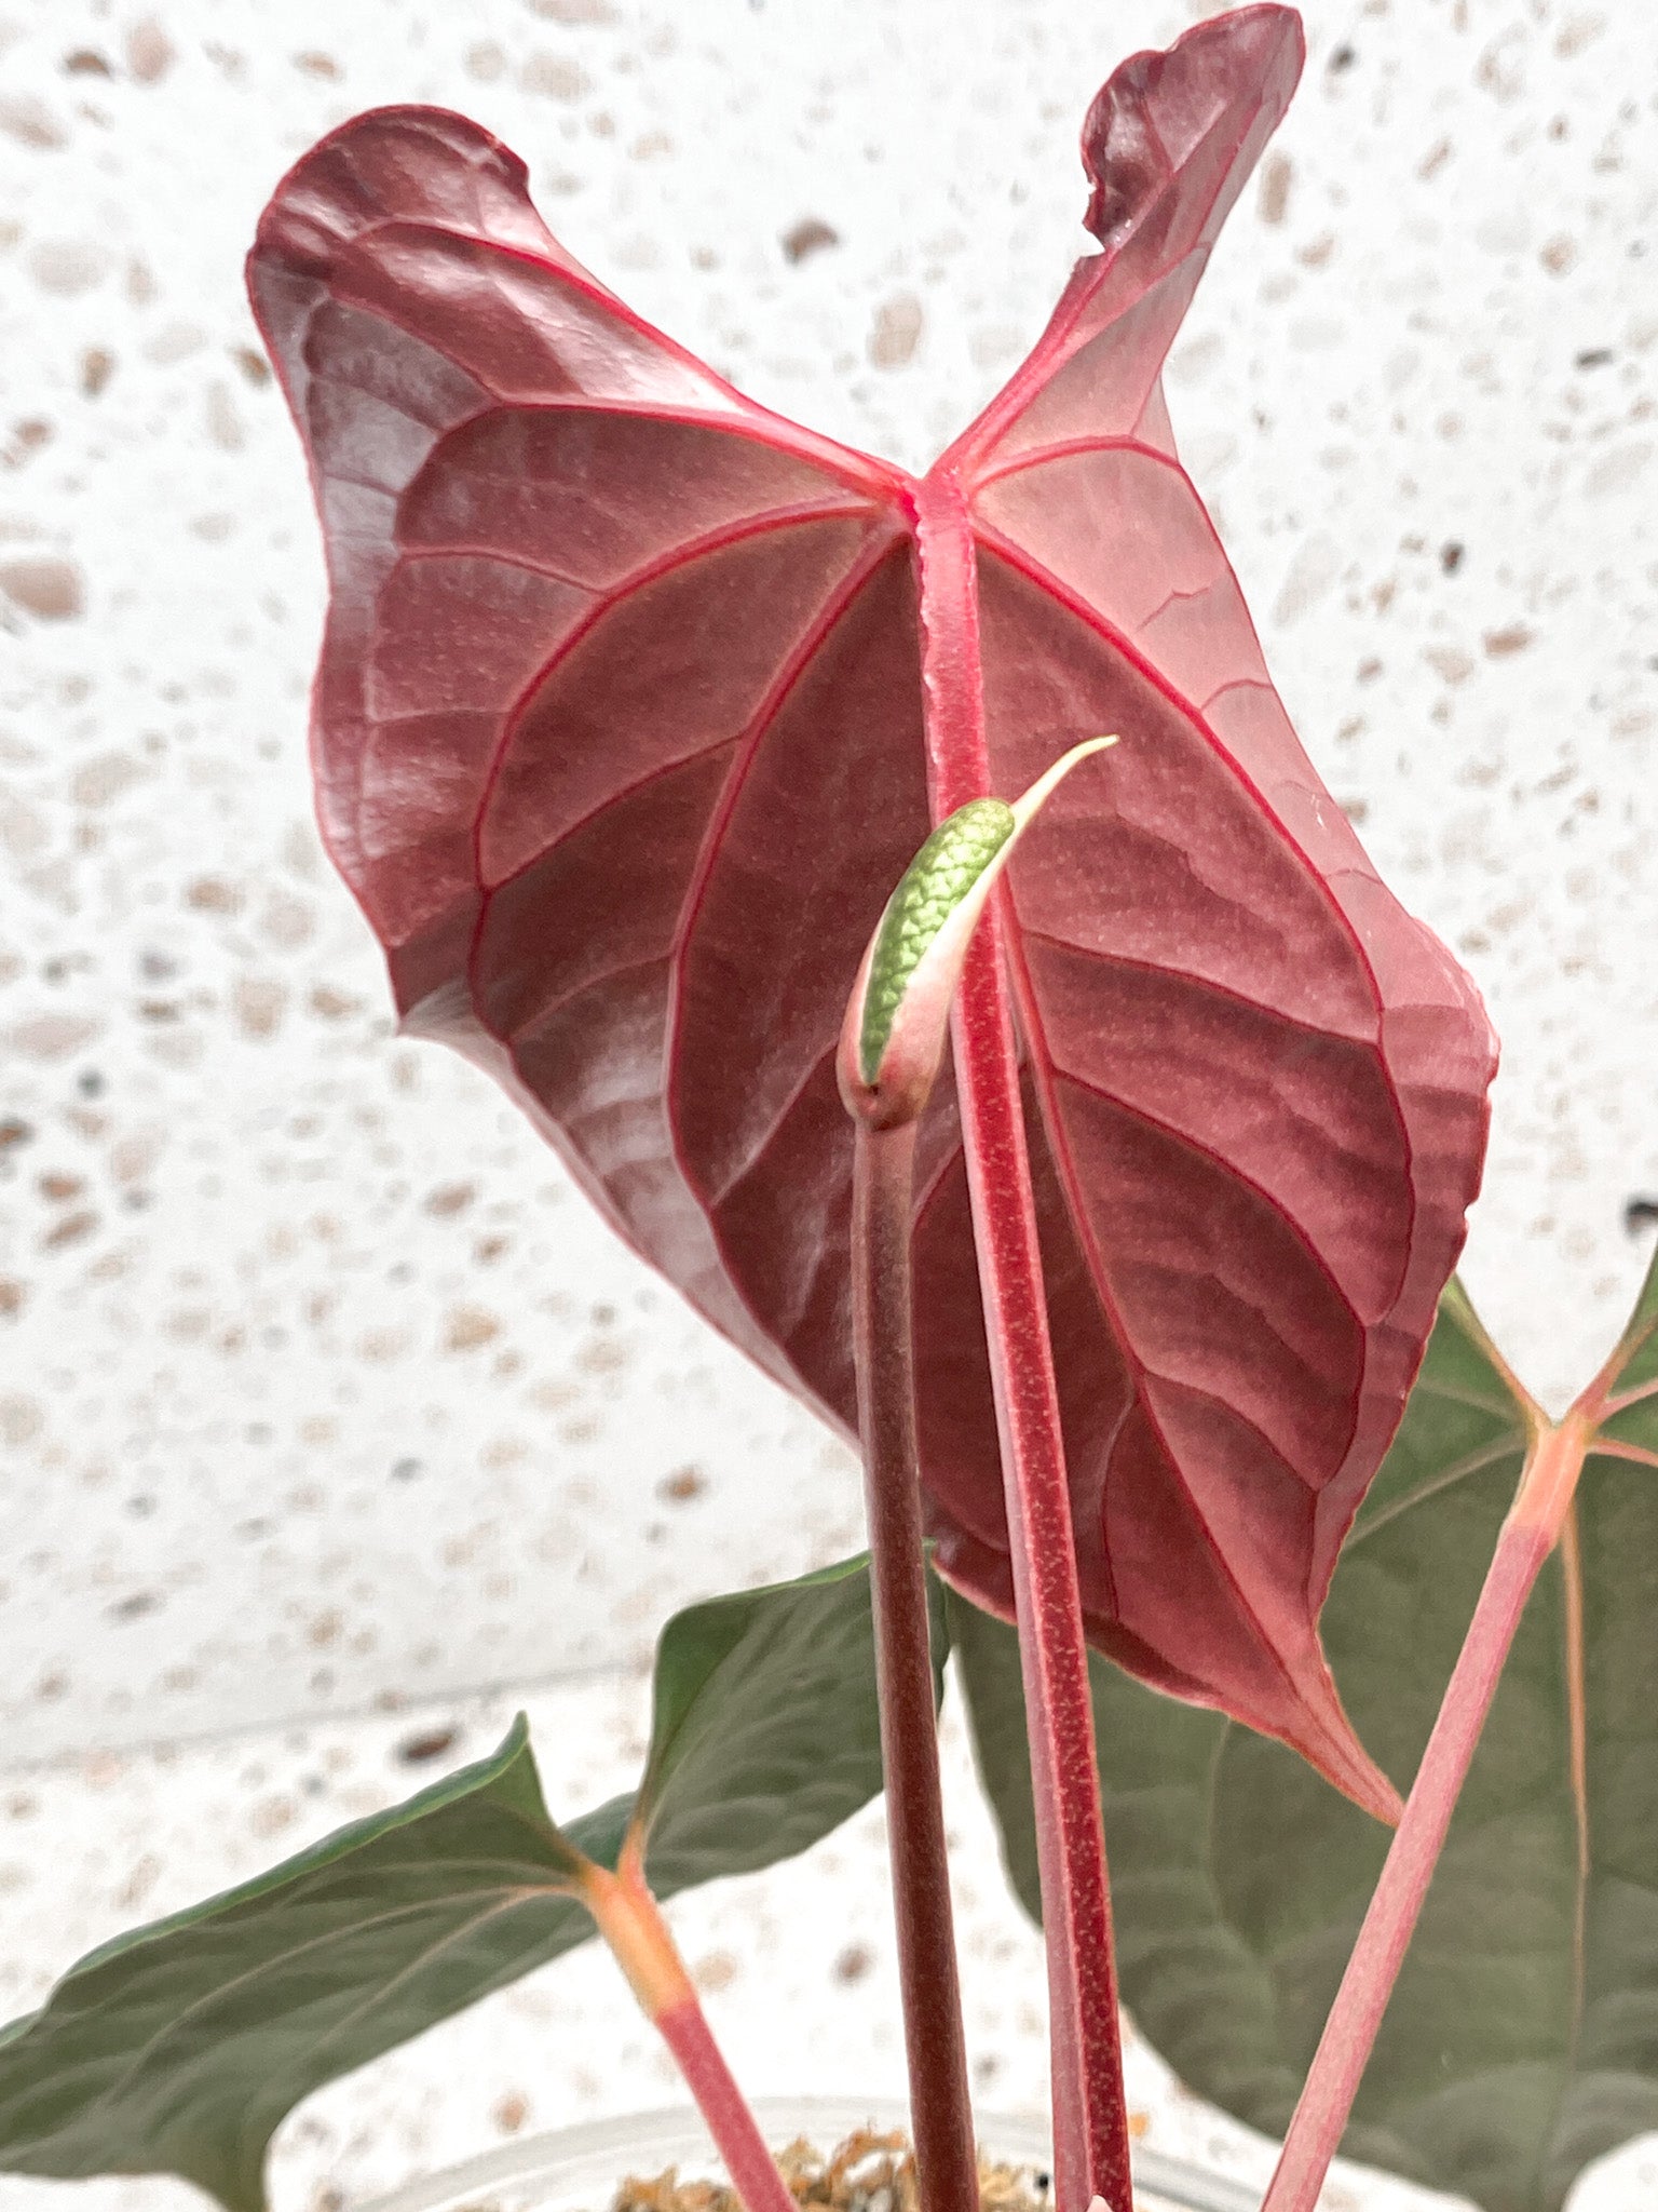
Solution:
<path fill-rule="evenodd" d="M 853 1146 L 858 1427 L 915 2181 L 922 2212 L 977 2212 L 915 1455 L 909 1252 L 915 1124 L 873 1130 L 860 1121 Z"/>

